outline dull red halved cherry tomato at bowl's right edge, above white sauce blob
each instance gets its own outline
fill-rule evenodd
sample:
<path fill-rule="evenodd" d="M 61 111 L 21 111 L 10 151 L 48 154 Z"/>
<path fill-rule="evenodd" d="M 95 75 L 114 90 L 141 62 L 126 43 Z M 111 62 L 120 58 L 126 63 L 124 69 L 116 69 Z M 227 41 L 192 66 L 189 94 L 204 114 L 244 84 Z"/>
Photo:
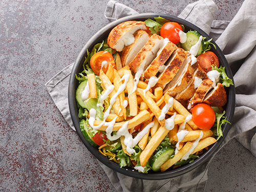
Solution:
<path fill-rule="evenodd" d="M 199 66 L 208 73 L 211 71 L 211 66 L 217 66 L 219 68 L 219 59 L 214 52 L 206 51 L 201 53 L 197 57 Z"/>

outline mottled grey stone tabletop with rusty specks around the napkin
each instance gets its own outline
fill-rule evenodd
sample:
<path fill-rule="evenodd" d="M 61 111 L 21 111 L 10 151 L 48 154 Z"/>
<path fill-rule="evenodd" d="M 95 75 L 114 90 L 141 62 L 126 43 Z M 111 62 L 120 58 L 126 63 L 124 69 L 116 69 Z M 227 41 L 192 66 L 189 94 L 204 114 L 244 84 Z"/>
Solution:
<path fill-rule="evenodd" d="M 119 2 L 140 13 L 178 16 L 195 0 Z M 215 2 L 217 20 L 231 20 L 243 3 Z M 109 23 L 107 3 L 0 1 L 1 191 L 115 191 L 44 87 Z M 255 157 L 231 140 L 209 166 L 206 191 L 254 191 L 255 165 Z"/>

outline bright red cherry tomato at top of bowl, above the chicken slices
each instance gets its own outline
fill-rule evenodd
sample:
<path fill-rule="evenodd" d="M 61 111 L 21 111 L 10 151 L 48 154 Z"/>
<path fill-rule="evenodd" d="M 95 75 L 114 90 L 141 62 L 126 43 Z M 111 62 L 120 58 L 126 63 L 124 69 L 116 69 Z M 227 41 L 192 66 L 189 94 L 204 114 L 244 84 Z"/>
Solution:
<path fill-rule="evenodd" d="M 178 44 L 180 42 L 179 31 L 182 31 L 181 26 L 176 22 L 167 22 L 163 24 L 160 35 L 163 38 L 168 38 L 174 44 Z"/>

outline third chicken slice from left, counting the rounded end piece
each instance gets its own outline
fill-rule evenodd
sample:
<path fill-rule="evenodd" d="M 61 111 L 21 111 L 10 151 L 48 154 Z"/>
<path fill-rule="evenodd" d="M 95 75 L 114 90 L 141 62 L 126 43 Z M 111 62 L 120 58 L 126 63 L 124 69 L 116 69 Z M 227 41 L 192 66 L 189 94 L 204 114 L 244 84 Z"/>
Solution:
<path fill-rule="evenodd" d="M 145 67 L 150 65 L 150 63 L 157 56 L 157 52 L 159 51 L 161 46 L 161 40 L 163 40 L 163 37 L 157 34 L 153 34 L 150 39 L 148 39 L 143 48 L 129 63 L 129 67 L 134 73 L 138 71 L 139 67 L 142 67 L 144 69 Z"/>

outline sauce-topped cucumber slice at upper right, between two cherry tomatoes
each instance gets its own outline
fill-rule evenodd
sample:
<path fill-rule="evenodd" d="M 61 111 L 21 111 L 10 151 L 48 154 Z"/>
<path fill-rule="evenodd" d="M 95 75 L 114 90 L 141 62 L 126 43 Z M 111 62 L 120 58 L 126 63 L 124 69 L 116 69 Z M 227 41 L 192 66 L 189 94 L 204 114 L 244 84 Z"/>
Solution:
<path fill-rule="evenodd" d="M 186 42 L 184 42 L 184 44 L 181 44 L 181 47 L 185 51 L 189 51 L 192 46 L 196 45 L 196 43 L 199 40 L 199 37 L 201 35 L 197 31 L 188 31 L 186 34 L 187 34 L 187 40 L 186 40 Z M 202 51 L 203 51 L 203 40 L 201 42 L 200 48 L 197 52 L 197 55 L 200 55 L 202 53 Z"/>

